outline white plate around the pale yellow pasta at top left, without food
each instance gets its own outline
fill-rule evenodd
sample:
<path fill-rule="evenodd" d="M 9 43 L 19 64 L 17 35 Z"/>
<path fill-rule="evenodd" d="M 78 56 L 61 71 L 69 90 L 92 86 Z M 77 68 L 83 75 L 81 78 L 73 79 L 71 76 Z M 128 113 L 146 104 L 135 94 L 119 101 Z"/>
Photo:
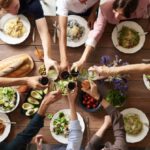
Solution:
<path fill-rule="evenodd" d="M 22 43 L 29 36 L 31 25 L 30 25 L 29 20 L 23 15 L 12 15 L 12 14 L 4 15 L 0 20 L 0 22 L 1 22 L 0 23 L 0 28 L 4 29 L 5 24 L 9 20 L 15 19 L 17 17 L 20 17 L 21 21 L 23 22 L 23 25 L 25 26 L 26 32 L 24 33 L 24 35 L 22 37 L 14 38 L 14 37 L 11 37 L 11 36 L 9 36 L 9 35 L 7 35 L 7 34 L 0 31 L 0 39 L 2 41 L 4 41 L 5 43 L 7 43 L 7 44 L 15 45 L 15 44 Z"/>

